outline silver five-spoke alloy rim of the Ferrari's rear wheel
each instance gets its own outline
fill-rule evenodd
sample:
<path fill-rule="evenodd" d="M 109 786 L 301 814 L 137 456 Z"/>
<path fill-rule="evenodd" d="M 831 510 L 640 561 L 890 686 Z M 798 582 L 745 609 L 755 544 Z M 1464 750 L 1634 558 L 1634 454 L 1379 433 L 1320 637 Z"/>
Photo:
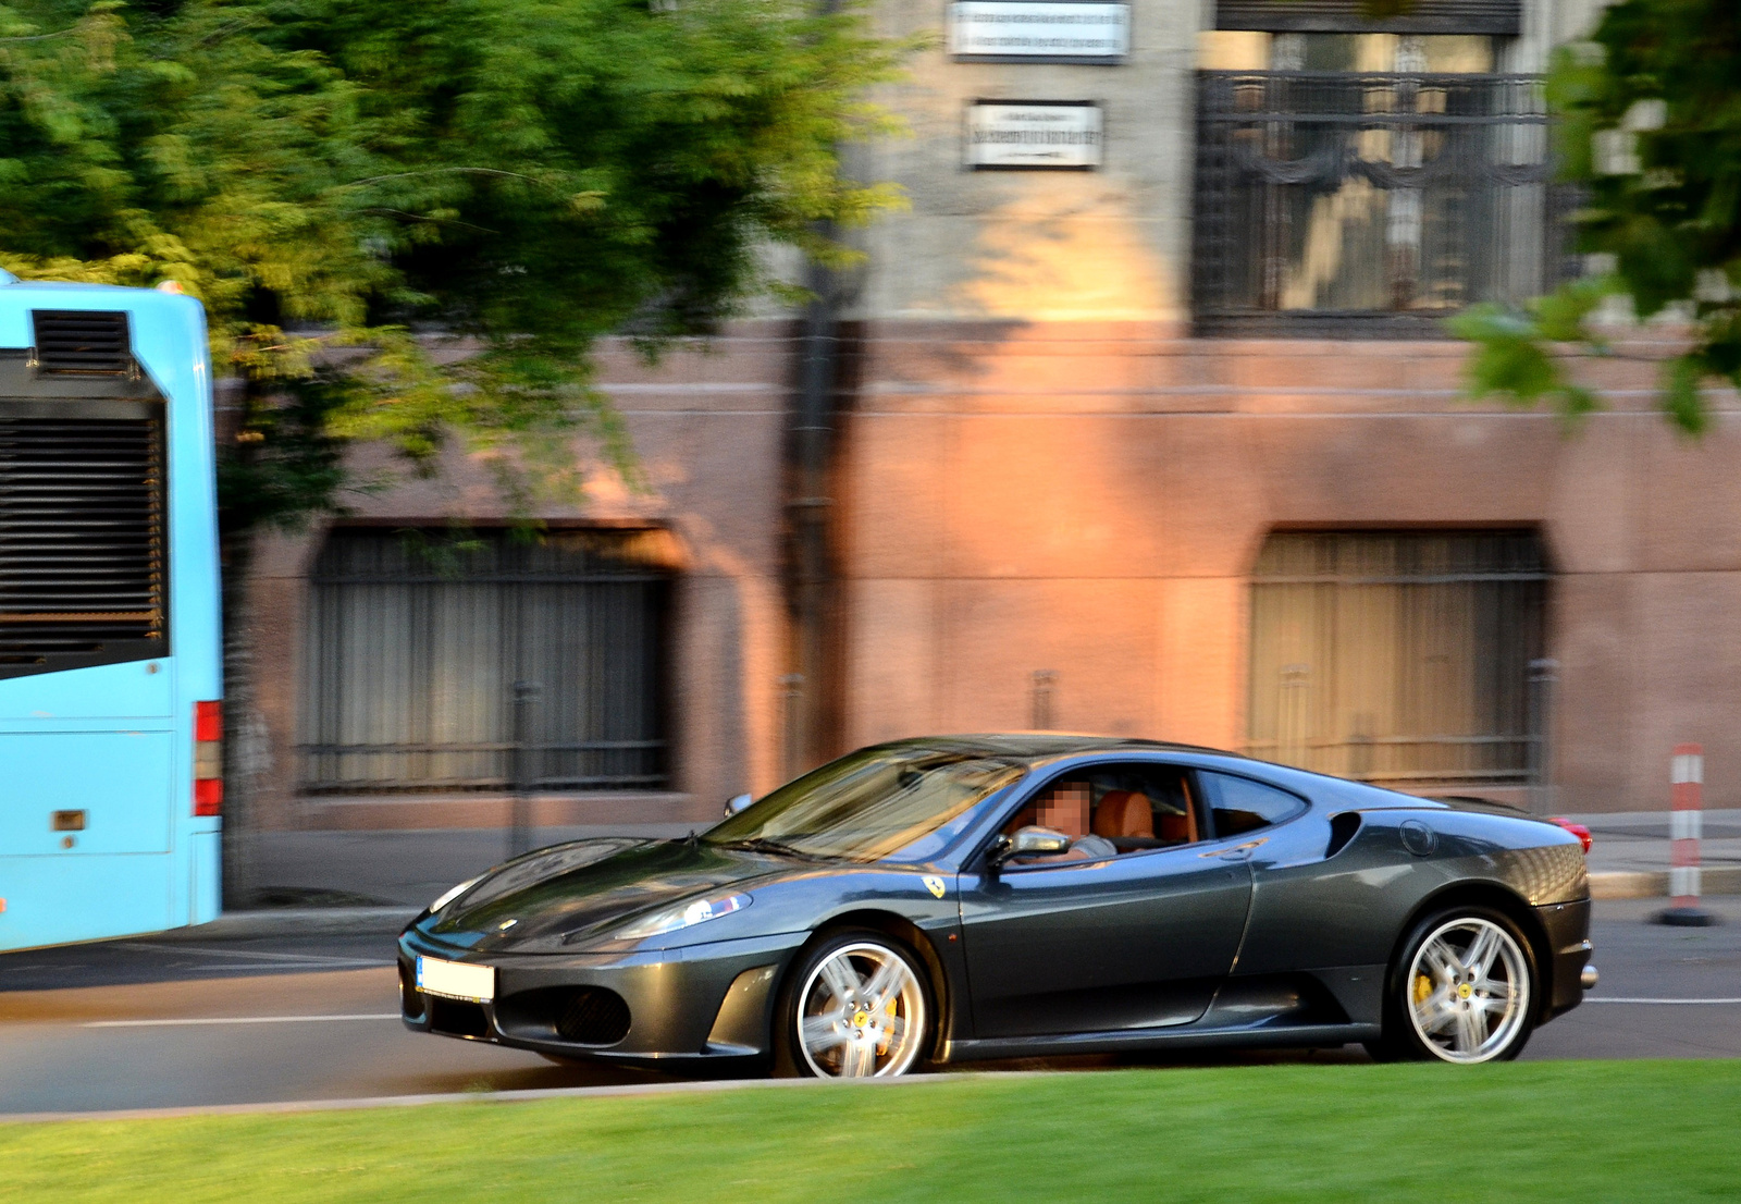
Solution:
<path fill-rule="evenodd" d="M 1449 920 L 1421 943 L 1405 979 L 1408 1021 L 1436 1058 L 1490 1061 L 1529 1021 L 1529 958 L 1492 920 Z"/>

